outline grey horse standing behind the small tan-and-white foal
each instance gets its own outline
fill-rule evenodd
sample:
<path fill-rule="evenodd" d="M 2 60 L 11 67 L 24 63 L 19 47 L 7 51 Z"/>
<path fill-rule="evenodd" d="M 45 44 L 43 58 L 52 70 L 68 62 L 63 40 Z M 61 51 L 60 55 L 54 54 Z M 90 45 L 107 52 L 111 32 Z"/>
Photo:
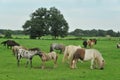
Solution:
<path fill-rule="evenodd" d="M 65 45 L 63 45 L 63 44 L 57 44 L 57 43 L 52 43 L 50 45 L 50 52 L 52 52 L 54 50 L 60 50 L 60 53 L 62 53 L 65 50 Z"/>

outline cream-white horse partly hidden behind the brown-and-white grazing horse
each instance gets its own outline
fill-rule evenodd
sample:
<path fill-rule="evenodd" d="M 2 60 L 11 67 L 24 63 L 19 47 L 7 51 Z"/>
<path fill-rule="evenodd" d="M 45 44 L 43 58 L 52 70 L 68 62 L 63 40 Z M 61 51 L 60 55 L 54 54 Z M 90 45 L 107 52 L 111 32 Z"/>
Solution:
<path fill-rule="evenodd" d="M 68 62 L 71 63 L 72 58 L 73 58 L 73 54 L 79 48 L 81 48 L 81 47 L 80 46 L 74 46 L 74 45 L 66 46 L 62 62 L 65 62 L 66 60 L 68 60 Z"/>

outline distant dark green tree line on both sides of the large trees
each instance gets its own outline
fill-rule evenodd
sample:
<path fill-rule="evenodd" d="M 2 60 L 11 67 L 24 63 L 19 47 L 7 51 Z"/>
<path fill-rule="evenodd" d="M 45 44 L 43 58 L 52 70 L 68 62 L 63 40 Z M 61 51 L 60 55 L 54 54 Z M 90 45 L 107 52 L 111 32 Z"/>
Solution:
<path fill-rule="evenodd" d="M 5 35 L 6 38 L 11 38 L 12 35 L 25 35 L 23 30 L 6 30 L 0 29 L 0 34 Z M 120 32 L 115 32 L 113 30 L 82 30 L 82 29 L 75 29 L 74 31 L 68 32 L 67 35 L 73 35 L 76 37 L 120 37 Z"/>

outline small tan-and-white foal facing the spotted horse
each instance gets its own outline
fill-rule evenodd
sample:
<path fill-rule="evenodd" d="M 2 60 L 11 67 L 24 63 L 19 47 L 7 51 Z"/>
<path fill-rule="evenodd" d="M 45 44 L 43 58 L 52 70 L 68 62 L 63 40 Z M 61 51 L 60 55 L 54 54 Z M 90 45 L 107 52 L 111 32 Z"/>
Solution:
<path fill-rule="evenodd" d="M 57 59 L 58 59 L 58 55 L 56 54 L 56 52 L 50 52 L 50 53 L 44 53 L 41 52 L 40 53 L 40 58 L 42 60 L 42 69 L 44 69 L 45 67 L 45 62 L 49 61 L 49 60 L 54 60 L 54 67 L 56 67 L 57 65 Z"/>

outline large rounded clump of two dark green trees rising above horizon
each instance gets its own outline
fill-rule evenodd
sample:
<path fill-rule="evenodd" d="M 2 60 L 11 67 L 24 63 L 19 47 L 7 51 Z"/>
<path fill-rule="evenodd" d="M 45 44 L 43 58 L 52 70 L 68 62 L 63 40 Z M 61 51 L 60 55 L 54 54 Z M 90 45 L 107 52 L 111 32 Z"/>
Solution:
<path fill-rule="evenodd" d="M 27 20 L 23 25 L 23 29 L 26 34 L 30 34 L 32 39 L 48 34 L 55 38 L 67 35 L 68 24 L 60 11 L 55 7 L 51 7 L 50 10 L 39 8 L 30 17 L 31 19 Z"/>

